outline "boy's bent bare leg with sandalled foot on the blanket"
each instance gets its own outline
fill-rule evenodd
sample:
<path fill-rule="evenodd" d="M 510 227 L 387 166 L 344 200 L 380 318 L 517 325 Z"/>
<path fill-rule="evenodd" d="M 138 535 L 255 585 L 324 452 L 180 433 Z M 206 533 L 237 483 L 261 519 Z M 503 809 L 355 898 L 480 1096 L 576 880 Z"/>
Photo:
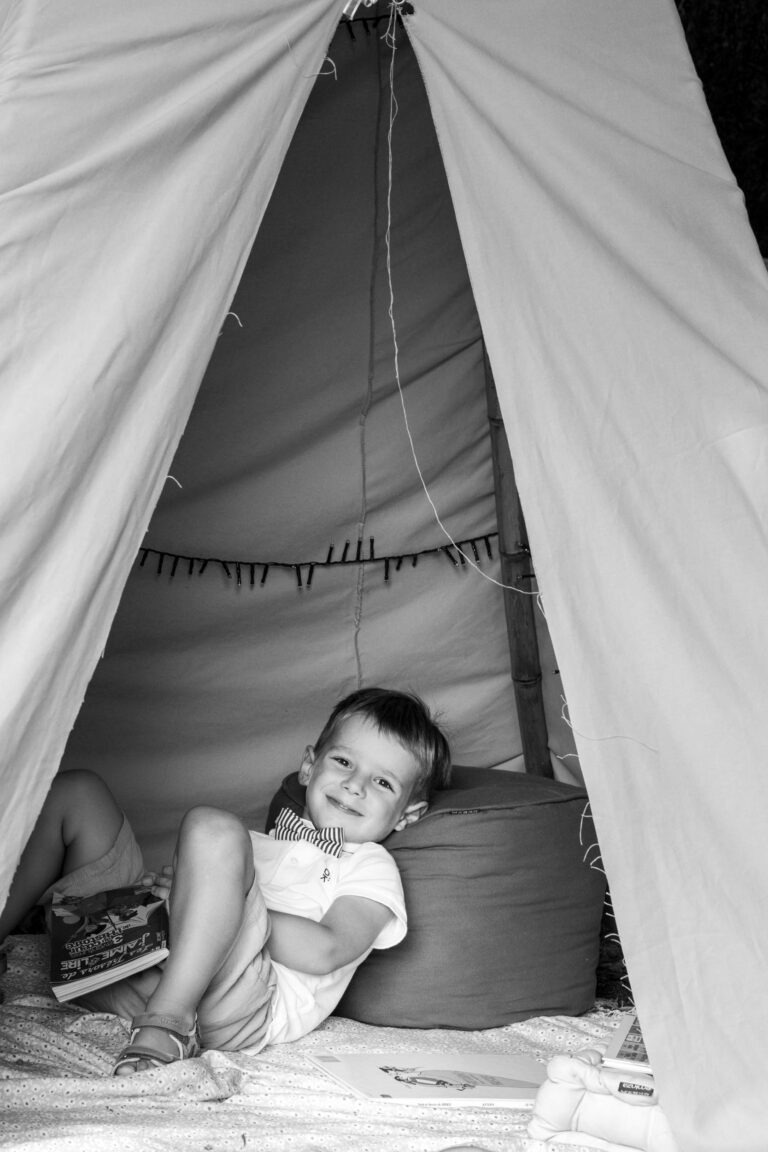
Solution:
<path fill-rule="evenodd" d="M 197 1006 L 239 932 L 253 879 L 250 836 L 237 817 L 214 808 L 188 812 L 176 844 L 170 955 L 146 1003 L 147 1014 L 174 1016 L 188 1029 L 193 1026 Z M 176 1055 L 164 1029 L 140 1028 L 135 1043 Z M 116 1074 L 150 1067 L 149 1061 L 136 1060 Z"/>

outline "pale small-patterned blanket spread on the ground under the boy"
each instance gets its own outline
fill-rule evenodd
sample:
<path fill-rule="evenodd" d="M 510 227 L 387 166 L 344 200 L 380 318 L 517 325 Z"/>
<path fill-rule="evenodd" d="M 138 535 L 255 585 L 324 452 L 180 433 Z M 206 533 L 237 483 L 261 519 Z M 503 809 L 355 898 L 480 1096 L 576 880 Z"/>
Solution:
<path fill-rule="evenodd" d="M 546 1063 L 606 1039 L 615 1013 L 537 1017 L 482 1032 L 382 1029 L 332 1017 L 296 1044 L 258 1056 L 207 1052 L 128 1078 L 112 1077 L 127 1025 L 56 1003 L 45 940 L 14 937 L 0 1005 L 0 1147 L 16 1152 L 540 1152 L 516 1108 L 359 1100 L 306 1054 L 515 1052 Z M 556 1147 L 548 1144 L 546 1147 Z M 569 1144 L 570 1152 L 587 1152 Z"/>

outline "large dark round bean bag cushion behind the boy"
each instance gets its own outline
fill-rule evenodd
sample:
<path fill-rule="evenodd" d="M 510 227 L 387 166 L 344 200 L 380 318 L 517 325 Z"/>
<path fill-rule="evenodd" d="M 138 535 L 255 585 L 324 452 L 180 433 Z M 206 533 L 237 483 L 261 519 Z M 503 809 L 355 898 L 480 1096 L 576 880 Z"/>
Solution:
<path fill-rule="evenodd" d="M 267 816 L 301 812 L 286 778 Z M 408 935 L 372 952 L 337 1014 L 401 1028 L 496 1028 L 594 1003 L 604 899 L 586 794 L 494 768 L 455 767 L 417 824 L 385 841 Z"/>

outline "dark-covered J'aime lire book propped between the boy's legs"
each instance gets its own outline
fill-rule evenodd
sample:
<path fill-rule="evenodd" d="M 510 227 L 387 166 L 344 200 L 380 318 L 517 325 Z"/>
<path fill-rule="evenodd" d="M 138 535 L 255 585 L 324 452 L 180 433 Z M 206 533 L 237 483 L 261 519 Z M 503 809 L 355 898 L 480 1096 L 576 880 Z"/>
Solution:
<path fill-rule="evenodd" d="M 56 894 L 50 935 L 51 987 L 58 1000 L 73 1000 L 165 960 L 168 910 L 142 885 L 92 896 Z"/>

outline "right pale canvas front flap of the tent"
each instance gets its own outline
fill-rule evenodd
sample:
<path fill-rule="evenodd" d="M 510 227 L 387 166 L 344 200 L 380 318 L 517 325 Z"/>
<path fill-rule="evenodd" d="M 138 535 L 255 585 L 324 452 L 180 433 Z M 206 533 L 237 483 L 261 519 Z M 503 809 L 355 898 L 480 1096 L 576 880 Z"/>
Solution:
<path fill-rule="evenodd" d="M 512 8 L 409 35 L 662 1104 L 758 1152 L 768 283 L 672 6 Z"/>

